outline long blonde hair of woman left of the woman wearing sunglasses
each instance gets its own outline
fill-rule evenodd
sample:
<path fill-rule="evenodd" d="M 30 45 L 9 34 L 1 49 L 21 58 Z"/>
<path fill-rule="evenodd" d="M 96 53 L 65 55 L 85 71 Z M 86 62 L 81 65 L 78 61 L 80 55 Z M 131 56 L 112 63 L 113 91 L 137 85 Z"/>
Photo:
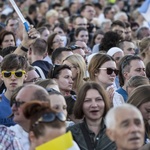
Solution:
<path fill-rule="evenodd" d="M 81 55 L 73 54 L 68 56 L 64 61 L 70 62 L 74 67 L 76 67 L 79 70 L 77 80 L 73 83 L 74 88 L 78 90 L 84 84 L 83 78 L 85 76 L 86 71 L 85 60 Z"/>

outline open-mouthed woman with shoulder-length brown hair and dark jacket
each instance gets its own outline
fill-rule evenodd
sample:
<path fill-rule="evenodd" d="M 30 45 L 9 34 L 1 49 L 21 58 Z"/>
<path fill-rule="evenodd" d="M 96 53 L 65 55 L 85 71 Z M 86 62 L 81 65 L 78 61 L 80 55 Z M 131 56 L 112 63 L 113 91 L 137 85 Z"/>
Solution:
<path fill-rule="evenodd" d="M 68 130 L 72 132 L 80 149 L 116 149 L 105 133 L 104 118 L 109 110 L 108 101 L 103 87 L 95 82 L 87 82 L 79 90 L 74 115 L 77 119 L 83 119 L 83 122 L 69 127 Z"/>

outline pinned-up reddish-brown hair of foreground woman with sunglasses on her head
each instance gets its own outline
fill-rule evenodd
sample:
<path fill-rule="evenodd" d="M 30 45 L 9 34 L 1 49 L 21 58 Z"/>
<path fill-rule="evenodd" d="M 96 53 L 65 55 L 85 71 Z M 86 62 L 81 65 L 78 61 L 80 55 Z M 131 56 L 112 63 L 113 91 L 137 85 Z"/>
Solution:
<path fill-rule="evenodd" d="M 60 121 L 57 117 L 51 122 L 38 122 L 38 120 L 47 113 L 57 114 L 56 110 L 50 107 L 48 102 L 31 101 L 23 105 L 23 113 L 27 119 L 30 119 L 30 131 L 33 131 L 36 138 L 45 134 L 45 127 L 61 128 L 65 127 L 65 121 Z"/>

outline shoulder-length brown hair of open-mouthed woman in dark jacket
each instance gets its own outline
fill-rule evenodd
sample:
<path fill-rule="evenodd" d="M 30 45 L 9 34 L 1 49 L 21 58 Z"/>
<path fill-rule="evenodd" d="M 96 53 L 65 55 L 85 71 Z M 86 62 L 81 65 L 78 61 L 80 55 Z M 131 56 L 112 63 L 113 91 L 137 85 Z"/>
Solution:
<path fill-rule="evenodd" d="M 97 90 L 104 100 L 105 110 L 104 110 L 103 117 L 105 117 L 106 113 L 108 112 L 108 110 L 110 108 L 109 99 L 107 97 L 107 94 L 106 94 L 104 88 L 96 82 L 87 82 L 80 88 L 78 96 L 77 96 L 77 100 L 75 102 L 74 115 L 77 119 L 82 119 L 84 116 L 83 103 L 84 103 L 86 93 L 90 89 Z"/>

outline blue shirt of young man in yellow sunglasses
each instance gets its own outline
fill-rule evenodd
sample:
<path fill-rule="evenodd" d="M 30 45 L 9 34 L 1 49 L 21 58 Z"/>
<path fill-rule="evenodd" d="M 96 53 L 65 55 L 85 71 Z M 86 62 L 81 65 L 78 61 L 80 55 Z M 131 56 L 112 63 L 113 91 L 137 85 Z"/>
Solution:
<path fill-rule="evenodd" d="M 0 101 L 0 124 L 8 127 L 15 125 L 13 118 L 8 118 L 11 114 L 10 100 L 8 100 L 3 93 Z"/>

